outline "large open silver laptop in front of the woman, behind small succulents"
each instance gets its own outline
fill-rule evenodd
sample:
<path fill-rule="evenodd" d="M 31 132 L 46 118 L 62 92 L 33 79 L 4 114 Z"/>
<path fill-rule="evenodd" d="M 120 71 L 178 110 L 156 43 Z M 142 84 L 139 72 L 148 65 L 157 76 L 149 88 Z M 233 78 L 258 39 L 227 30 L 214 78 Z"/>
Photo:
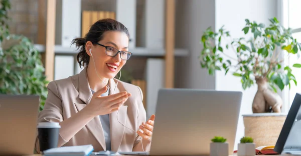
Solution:
<path fill-rule="evenodd" d="M 214 136 L 233 153 L 242 92 L 164 88 L 159 90 L 150 152 L 137 155 L 210 155 Z"/>

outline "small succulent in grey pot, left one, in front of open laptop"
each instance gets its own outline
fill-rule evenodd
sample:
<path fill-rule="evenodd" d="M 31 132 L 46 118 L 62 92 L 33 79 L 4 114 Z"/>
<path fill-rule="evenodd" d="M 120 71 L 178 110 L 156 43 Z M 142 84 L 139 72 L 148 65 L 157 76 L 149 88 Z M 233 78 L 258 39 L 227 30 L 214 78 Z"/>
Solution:
<path fill-rule="evenodd" d="M 226 138 L 222 136 L 215 136 L 211 139 L 210 143 L 210 155 L 211 156 L 228 156 L 229 144 L 226 142 Z"/>

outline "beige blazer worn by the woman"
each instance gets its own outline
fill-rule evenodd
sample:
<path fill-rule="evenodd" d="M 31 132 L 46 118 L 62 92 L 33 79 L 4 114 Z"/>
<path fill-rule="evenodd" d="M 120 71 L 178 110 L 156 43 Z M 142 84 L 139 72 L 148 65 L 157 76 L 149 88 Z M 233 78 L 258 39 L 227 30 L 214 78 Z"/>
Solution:
<path fill-rule="evenodd" d="M 110 79 L 109 86 L 114 89 L 116 79 Z M 92 92 L 87 79 L 87 69 L 79 74 L 65 79 L 54 80 L 48 84 L 48 96 L 44 109 L 39 113 L 38 122 L 60 122 L 71 117 L 83 109 L 91 100 Z M 119 81 L 115 93 L 127 91 L 131 96 L 120 107 L 118 120 L 126 127 L 137 130 L 139 125 L 146 120 L 146 113 L 142 103 L 140 87 Z M 117 120 L 117 111 L 109 114 L 111 149 L 113 151 L 132 151 L 141 137 L 136 132 L 124 127 Z M 70 140 L 65 140 L 60 134 L 59 142 L 63 146 L 92 144 L 94 151 L 106 149 L 104 132 L 99 116 L 94 117 Z M 36 150 L 39 150 L 39 139 L 36 138 Z"/>

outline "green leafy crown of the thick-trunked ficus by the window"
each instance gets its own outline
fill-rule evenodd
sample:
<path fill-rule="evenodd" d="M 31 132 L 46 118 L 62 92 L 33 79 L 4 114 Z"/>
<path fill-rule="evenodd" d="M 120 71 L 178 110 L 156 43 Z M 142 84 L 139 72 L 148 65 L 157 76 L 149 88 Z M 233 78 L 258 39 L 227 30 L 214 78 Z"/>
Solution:
<path fill-rule="evenodd" d="M 281 49 L 288 56 L 299 57 L 301 43 L 297 42 L 291 35 L 291 29 L 279 24 L 274 17 L 269 19 L 270 25 L 265 27 L 263 23 L 250 22 L 245 19 L 246 24 L 242 29 L 245 36 L 232 39 L 230 32 L 222 26 L 218 32 L 213 32 L 209 27 L 204 32 L 201 42 L 204 48 L 201 51 L 201 66 L 208 68 L 209 74 L 215 70 L 229 71 L 235 76 L 241 77 L 242 87 L 246 89 L 254 84 L 256 80 L 269 82 L 276 92 L 276 87 L 281 90 L 285 85 L 293 81 L 297 85 L 295 76 L 289 66 L 283 66 L 284 58 L 280 58 Z M 249 39 L 245 38 L 251 33 Z M 226 44 L 225 41 L 229 41 Z M 234 57 L 226 54 L 225 49 L 233 50 Z M 284 54 L 284 56 L 287 56 Z M 295 63 L 293 67 L 301 67 Z"/>

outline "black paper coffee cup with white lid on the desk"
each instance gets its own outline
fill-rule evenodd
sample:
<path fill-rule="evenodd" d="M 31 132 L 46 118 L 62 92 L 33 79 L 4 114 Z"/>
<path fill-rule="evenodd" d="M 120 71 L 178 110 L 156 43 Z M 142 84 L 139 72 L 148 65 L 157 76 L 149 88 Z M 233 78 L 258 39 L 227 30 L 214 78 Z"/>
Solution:
<path fill-rule="evenodd" d="M 58 147 L 60 123 L 40 122 L 37 126 L 39 131 L 40 152 Z"/>

